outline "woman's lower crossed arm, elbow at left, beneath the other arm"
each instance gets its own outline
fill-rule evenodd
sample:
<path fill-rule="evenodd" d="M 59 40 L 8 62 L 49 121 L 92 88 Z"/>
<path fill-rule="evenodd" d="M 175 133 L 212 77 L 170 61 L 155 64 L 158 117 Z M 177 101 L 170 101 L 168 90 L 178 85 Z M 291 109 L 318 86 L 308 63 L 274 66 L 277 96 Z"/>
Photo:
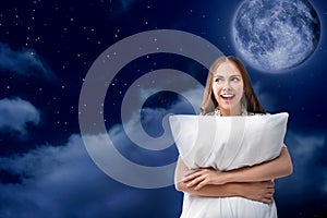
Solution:
<path fill-rule="evenodd" d="M 175 189 L 180 192 L 186 192 L 198 196 L 206 197 L 231 197 L 241 196 L 249 199 L 272 203 L 275 192 L 274 182 L 246 182 L 246 183 L 227 183 L 220 185 L 208 184 L 199 190 L 189 187 L 183 182 L 184 174 L 189 171 L 187 167 L 181 158 L 179 158 L 175 169 Z"/>

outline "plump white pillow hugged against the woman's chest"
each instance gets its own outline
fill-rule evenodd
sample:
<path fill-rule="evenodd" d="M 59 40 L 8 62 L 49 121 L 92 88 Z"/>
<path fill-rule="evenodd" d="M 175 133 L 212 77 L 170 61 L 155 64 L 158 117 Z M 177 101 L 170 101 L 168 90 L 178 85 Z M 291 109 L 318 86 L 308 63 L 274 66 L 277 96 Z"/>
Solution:
<path fill-rule="evenodd" d="M 180 156 L 190 169 L 231 170 L 279 156 L 289 114 L 170 116 Z"/>

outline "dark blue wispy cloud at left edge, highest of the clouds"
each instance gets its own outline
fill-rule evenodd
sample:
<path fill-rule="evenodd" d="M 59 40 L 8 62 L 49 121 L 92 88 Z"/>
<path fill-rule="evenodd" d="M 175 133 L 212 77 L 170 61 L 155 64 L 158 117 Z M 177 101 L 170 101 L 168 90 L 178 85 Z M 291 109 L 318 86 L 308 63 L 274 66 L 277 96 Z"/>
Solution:
<path fill-rule="evenodd" d="M 12 50 L 2 43 L 0 43 L 0 71 L 9 71 L 24 76 L 38 75 L 53 78 L 53 74 L 35 50 L 27 48 Z"/>

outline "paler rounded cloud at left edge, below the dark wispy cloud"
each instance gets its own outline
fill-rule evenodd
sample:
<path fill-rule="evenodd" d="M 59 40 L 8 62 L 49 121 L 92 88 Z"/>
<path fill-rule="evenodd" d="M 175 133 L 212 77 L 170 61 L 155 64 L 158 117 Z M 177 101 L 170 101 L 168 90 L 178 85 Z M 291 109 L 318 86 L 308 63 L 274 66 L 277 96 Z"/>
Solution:
<path fill-rule="evenodd" d="M 26 135 L 26 124 L 38 124 L 39 111 L 28 101 L 21 98 L 0 99 L 0 132 Z"/>

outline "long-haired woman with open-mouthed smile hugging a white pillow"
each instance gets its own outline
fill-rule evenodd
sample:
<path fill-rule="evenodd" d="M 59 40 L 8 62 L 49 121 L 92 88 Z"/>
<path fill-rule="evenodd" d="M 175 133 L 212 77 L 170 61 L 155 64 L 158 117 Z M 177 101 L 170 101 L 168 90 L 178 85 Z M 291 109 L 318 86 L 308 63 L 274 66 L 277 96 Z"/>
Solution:
<path fill-rule="evenodd" d="M 204 116 L 266 113 L 252 88 L 245 66 L 239 59 L 222 57 L 215 61 L 208 74 L 201 113 Z M 182 158 L 179 158 L 175 189 L 184 192 L 181 217 L 277 217 L 272 180 L 291 173 L 292 162 L 286 146 L 282 147 L 279 157 L 270 161 L 225 172 L 209 168 L 190 170 Z M 219 205 L 218 203 L 215 205 L 217 208 L 221 207 L 219 213 L 208 215 L 198 208 L 192 210 L 196 204 L 193 199 L 201 197 L 213 197 L 215 201 L 219 197 Z M 232 201 L 226 203 L 226 199 Z M 243 208 L 244 201 L 255 201 L 254 204 L 261 204 L 262 209 L 257 211 Z"/>

